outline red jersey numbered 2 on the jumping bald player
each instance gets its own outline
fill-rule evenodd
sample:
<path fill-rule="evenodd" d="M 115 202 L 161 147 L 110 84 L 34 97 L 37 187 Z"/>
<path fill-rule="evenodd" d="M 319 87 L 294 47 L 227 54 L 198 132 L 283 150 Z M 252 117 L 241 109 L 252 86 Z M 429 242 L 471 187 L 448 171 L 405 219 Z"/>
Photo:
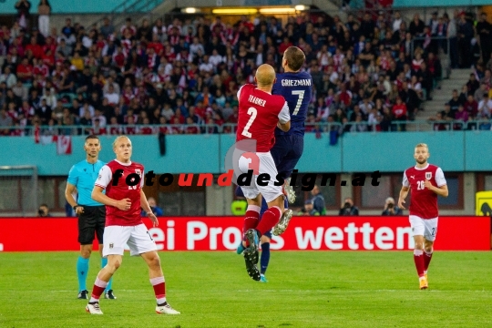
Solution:
<path fill-rule="evenodd" d="M 239 113 L 236 142 L 256 140 L 257 152 L 268 152 L 275 144 L 275 128 L 291 119 L 285 98 L 247 84 L 238 91 Z"/>

